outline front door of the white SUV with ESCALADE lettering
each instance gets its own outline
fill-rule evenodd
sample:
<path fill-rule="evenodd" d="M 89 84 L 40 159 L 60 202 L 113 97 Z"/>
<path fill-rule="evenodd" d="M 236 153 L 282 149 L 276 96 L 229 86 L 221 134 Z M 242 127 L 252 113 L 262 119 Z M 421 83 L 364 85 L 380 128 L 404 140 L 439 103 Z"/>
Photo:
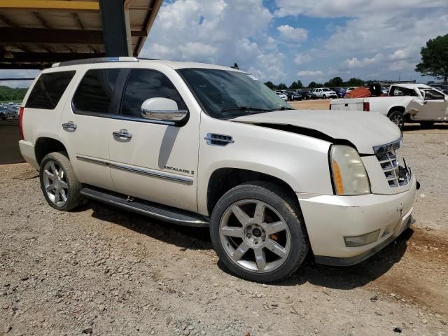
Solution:
<path fill-rule="evenodd" d="M 167 71 L 178 87 L 160 70 Z M 186 124 L 169 126 L 142 117 L 141 104 L 155 97 L 172 99 L 179 109 L 188 109 Z M 172 69 L 130 69 L 121 101 L 119 116 L 112 121 L 116 133 L 109 134 L 110 167 L 117 191 L 197 211 L 200 109 L 193 104 L 185 83 Z"/>

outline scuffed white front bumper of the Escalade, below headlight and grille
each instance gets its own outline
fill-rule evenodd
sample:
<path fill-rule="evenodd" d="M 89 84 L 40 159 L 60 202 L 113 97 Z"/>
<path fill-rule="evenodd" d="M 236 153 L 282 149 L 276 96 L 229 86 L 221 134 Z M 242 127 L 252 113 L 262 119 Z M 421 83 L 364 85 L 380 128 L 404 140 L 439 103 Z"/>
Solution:
<path fill-rule="evenodd" d="M 353 265 L 384 248 L 410 225 L 416 180 L 395 195 L 307 195 L 297 193 L 316 262 Z M 346 246 L 344 237 L 378 231 L 363 246 Z"/>

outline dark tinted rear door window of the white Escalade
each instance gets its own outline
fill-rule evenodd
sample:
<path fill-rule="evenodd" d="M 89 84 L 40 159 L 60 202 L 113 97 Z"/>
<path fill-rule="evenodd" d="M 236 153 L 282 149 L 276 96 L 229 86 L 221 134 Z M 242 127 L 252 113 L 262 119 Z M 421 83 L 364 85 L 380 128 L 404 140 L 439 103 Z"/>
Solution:
<path fill-rule="evenodd" d="M 73 97 L 76 113 L 111 113 L 111 102 L 120 69 L 93 69 L 85 73 Z"/>

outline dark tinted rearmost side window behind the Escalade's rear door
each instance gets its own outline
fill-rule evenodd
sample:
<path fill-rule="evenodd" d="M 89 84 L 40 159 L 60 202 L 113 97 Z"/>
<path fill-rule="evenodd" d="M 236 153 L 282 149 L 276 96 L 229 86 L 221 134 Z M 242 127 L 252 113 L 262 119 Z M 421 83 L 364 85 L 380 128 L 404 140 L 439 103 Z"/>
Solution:
<path fill-rule="evenodd" d="M 42 73 L 29 94 L 25 107 L 55 109 L 76 71 Z"/>

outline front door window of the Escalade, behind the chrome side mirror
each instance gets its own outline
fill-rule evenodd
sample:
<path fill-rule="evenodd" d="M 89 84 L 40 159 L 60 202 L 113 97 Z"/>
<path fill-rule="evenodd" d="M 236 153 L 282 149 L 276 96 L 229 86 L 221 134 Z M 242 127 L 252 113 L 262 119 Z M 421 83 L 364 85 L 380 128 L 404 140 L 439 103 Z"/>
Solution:
<path fill-rule="evenodd" d="M 127 79 L 121 114 L 139 118 L 141 104 L 146 99 L 155 97 L 172 99 L 177 103 L 178 109 L 187 109 L 176 87 L 163 73 L 149 69 L 133 69 Z"/>

